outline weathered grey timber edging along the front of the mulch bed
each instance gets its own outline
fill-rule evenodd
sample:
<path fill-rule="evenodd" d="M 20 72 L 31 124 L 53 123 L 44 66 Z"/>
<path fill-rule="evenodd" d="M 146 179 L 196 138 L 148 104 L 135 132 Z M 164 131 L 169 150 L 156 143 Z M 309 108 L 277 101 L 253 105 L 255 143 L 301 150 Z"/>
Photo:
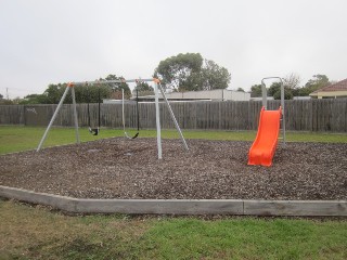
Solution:
<path fill-rule="evenodd" d="M 347 200 L 88 199 L 2 185 L 0 197 L 73 213 L 347 217 Z"/>

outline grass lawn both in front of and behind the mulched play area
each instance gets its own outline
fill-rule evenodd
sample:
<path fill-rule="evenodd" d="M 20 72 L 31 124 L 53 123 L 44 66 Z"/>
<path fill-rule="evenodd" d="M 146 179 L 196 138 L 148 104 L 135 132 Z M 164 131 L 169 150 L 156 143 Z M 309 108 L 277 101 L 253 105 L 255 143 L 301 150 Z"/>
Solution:
<path fill-rule="evenodd" d="M 0 153 L 36 148 L 43 132 L 43 128 L 0 127 Z M 155 134 L 140 132 L 140 136 Z M 255 134 L 184 131 L 187 139 L 253 141 Z M 93 136 L 80 130 L 83 142 L 110 136 L 123 136 L 123 131 L 102 130 Z M 178 135 L 165 130 L 163 138 Z M 347 143 L 347 134 L 290 132 L 287 140 Z M 46 146 L 74 142 L 74 129 L 54 128 Z M 2 259 L 347 259 L 347 220 L 66 216 L 0 199 Z"/>

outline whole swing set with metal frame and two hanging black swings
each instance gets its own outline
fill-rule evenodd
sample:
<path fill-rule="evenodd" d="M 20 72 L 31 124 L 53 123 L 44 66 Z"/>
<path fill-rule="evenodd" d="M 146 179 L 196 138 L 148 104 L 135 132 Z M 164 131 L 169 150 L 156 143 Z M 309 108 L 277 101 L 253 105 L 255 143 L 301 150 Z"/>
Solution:
<path fill-rule="evenodd" d="M 88 86 L 89 84 L 94 84 L 94 83 L 98 83 L 99 87 L 100 84 L 103 84 L 103 83 L 126 83 L 126 82 L 134 82 L 134 83 L 138 83 L 139 81 L 142 81 L 142 82 L 153 82 L 154 83 L 154 92 L 155 92 L 155 118 L 156 118 L 156 140 L 157 140 L 157 153 L 158 153 L 158 159 L 162 159 L 163 158 L 163 152 L 162 152 L 162 129 L 160 129 L 160 115 L 159 115 L 159 91 L 160 91 L 160 94 L 164 99 L 164 102 L 169 110 L 169 114 L 170 114 L 170 117 L 175 123 L 175 127 L 180 135 L 180 139 L 182 141 L 182 144 L 183 144 L 183 147 L 185 151 L 189 151 L 189 147 L 187 145 L 187 142 L 184 140 L 184 136 L 183 136 L 183 133 L 176 120 L 176 117 L 175 117 L 175 114 L 171 109 L 171 106 L 168 102 L 168 100 L 166 99 L 166 95 L 164 93 L 164 90 L 160 86 L 160 81 L 159 79 L 156 79 L 156 78 L 152 78 L 152 79 L 130 79 L 130 80 L 103 80 L 103 81 L 86 81 L 86 82 L 69 82 L 67 84 L 67 88 L 65 89 L 63 95 L 62 95 L 62 99 L 61 101 L 59 102 L 57 104 L 57 107 L 43 133 L 43 136 L 37 147 L 37 152 L 39 152 L 41 148 L 42 148 L 42 145 L 44 143 L 44 140 L 47 139 L 47 135 L 48 135 L 48 132 L 50 131 L 56 116 L 57 116 L 57 113 L 60 112 L 63 103 L 64 103 L 64 100 L 68 93 L 68 91 L 70 90 L 72 91 L 72 98 L 73 98 L 73 112 L 74 112 L 74 121 L 75 121 L 75 133 L 76 133 L 76 143 L 80 143 L 80 139 L 79 139 L 79 131 L 78 131 L 78 117 L 77 117 L 77 108 L 76 108 L 76 98 L 75 98 L 75 89 L 74 87 L 75 86 Z M 89 93 L 88 93 L 89 95 Z M 100 99 L 100 88 L 99 88 L 99 105 L 98 105 L 98 120 L 99 120 L 99 126 L 98 128 L 91 128 L 91 123 L 90 123 L 90 110 L 89 110 L 89 101 L 90 101 L 90 96 L 88 96 L 88 127 L 89 127 L 89 131 L 93 134 L 93 135 L 98 135 L 99 132 L 100 132 L 100 103 L 101 103 L 101 99 Z M 138 120 L 138 132 L 133 135 L 133 136 L 130 136 L 127 132 L 126 132 L 126 126 L 125 126 L 125 109 L 124 109 L 124 91 L 123 91 L 123 129 L 124 129 L 124 133 L 126 135 L 126 138 L 128 139 L 136 139 L 139 136 L 139 96 L 138 96 L 138 91 L 137 91 L 137 120 Z"/>

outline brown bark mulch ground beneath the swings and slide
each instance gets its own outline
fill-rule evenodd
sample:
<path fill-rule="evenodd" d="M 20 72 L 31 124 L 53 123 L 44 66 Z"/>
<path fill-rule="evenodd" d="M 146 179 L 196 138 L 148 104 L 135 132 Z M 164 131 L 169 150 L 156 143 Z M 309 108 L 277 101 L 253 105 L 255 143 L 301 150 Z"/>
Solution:
<path fill-rule="evenodd" d="M 250 142 L 100 140 L 0 156 L 0 185 L 78 198 L 347 199 L 347 144 L 279 144 L 247 166 Z"/>

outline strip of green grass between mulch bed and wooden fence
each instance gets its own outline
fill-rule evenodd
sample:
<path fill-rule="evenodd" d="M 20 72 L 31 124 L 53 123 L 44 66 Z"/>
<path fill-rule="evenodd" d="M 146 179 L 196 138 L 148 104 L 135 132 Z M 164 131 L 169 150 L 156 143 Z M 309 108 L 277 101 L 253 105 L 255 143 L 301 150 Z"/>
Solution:
<path fill-rule="evenodd" d="M 37 148 L 44 128 L 39 127 L 0 127 L 0 154 L 35 150 Z M 130 130 L 129 134 L 136 131 Z M 94 136 L 86 128 L 79 129 L 81 142 L 93 141 L 98 139 L 124 136 L 123 130 L 102 129 L 100 134 Z M 184 130 L 187 139 L 208 139 L 208 140 L 229 140 L 229 141 L 253 141 L 256 136 L 255 131 L 193 131 Z M 140 138 L 155 138 L 155 130 L 141 130 Z M 177 139 L 176 130 L 163 130 L 164 139 Z M 347 143 L 346 133 L 308 133 L 308 132 L 287 132 L 288 142 L 329 142 L 329 143 Z M 52 128 L 48 134 L 43 147 L 70 144 L 76 142 L 75 129 L 73 128 Z"/>

